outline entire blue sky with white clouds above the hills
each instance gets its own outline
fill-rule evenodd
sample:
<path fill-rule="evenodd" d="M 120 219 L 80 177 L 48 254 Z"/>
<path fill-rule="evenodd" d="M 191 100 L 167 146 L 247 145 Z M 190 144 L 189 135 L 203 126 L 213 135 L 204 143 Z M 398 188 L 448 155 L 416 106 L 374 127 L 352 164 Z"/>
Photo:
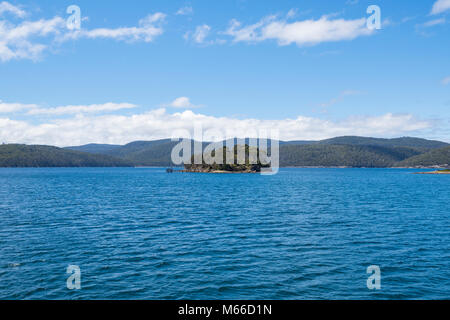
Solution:
<path fill-rule="evenodd" d="M 450 142 L 449 108 L 450 0 L 0 0 L 0 143 Z"/>

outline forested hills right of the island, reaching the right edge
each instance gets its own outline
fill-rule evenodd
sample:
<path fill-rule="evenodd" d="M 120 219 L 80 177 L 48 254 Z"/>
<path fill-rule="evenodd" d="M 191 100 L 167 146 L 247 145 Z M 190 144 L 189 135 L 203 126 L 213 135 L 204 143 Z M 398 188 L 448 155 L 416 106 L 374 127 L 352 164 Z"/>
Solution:
<path fill-rule="evenodd" d="M 281 144 L 280 165 L 284 167 L 421 167 L 450 164 L 449 144 L 403 137 L 380 139 L 337 137 L 312 144 Z"/>

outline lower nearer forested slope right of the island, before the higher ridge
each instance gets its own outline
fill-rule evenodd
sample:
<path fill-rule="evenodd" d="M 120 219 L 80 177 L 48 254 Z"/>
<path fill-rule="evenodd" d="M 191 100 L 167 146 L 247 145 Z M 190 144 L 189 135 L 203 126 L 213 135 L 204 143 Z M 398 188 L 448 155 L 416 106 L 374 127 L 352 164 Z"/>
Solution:
<path fill-rule="evenodd" d="M 420 152 L 413 148 L 353 145 L 282 145 L 280 166 L 390 167 Z"/>

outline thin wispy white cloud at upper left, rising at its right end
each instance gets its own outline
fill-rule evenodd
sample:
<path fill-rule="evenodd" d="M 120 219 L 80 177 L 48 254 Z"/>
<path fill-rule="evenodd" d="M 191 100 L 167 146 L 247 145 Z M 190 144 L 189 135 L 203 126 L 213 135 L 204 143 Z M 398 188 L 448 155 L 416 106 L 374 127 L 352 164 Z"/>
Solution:
<path fill-rule="evenodd" d="M 97 28 L 92 30 L 81 29 L 66 33 L 61 40 L 79 39 L 79 38 L 110 38 L 121 41 L 144 41 L 152 42 L 157 36 L 163 34 L 162 23 L 166 15 L 161 12 L 150 14 L 144 19 L 139 20 L 138 27 L 122 28 Z"/>

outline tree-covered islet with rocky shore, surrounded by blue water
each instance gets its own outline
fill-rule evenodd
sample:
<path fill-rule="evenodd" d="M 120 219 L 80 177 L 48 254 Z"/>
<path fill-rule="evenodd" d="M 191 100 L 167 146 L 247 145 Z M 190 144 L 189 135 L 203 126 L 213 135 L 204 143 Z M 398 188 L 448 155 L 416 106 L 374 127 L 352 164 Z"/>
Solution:
<path fill-rule="evenodd" d="M 220 150 L 220 149 L 218 149 Z M 243 152 L 242 152 L 243 151 Z M 191 157 L 192 164 L 186 164 L 185 169 L 188 172 L 261 172 L 261 168 L 269 167 L 269 165 L 261 164 L 260 150 L 256 147 L 249 147 L 248 145 L 235 145 L 233 150 L 227 147 L 222 147 L 221 163 L 214 161 L 217 150 L 212 150 L 210 155 L 206 154 L 203 157 L 202 164 L 194 164 L 196 156 Z M 227 153 L 229 153 L 227 155 Z M 220 157 L 220 154 L 217 154 Z M 254 156 L 256 161 L 250 161 L 250 156 Z M 200 155 L 201 156 L 201 155 Z M 241 156 L 242 158 L 239 158 Z M 206 159 L 205 159 L 206 158 Z M 228 164 L 228 159 L 233 159 L 233 163 Z"/>

